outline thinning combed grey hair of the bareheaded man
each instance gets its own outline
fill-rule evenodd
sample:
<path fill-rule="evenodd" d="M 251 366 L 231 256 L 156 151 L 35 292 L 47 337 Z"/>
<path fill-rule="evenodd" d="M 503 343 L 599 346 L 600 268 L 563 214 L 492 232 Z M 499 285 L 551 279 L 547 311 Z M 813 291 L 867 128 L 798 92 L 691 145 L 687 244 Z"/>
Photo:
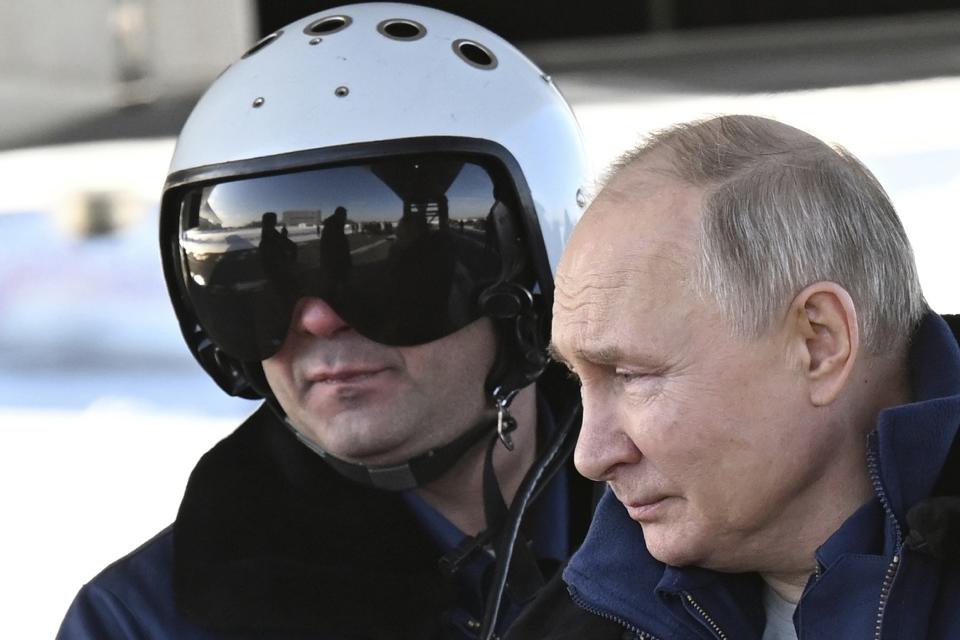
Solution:
<path fill-rule="evenodd" d="M 841 147 L 775 120 L 722 116 L 651 136 L 624 167 L 669 150 L 671 173 L 704 189 L 697 292 L 739 335 L 758 336 L 807 285 L 850 294 L 864 347 L 906 345 L 927 310 L 889 197 Z"/>

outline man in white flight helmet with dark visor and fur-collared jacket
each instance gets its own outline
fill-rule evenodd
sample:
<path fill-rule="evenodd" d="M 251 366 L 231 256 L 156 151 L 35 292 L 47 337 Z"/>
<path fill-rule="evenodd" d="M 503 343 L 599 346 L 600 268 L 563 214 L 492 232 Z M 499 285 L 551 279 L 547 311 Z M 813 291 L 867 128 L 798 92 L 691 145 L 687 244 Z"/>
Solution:
<path fill-rule="evenodd" d="M 227 69 L 161 250 L 197 361 L 265 402 L 60 637 L 469 638 L 501 593 L 511 618 L 591 510 L 545 356 L 586 179 L 549 77 L 450 14 L 344 6 Z"/>

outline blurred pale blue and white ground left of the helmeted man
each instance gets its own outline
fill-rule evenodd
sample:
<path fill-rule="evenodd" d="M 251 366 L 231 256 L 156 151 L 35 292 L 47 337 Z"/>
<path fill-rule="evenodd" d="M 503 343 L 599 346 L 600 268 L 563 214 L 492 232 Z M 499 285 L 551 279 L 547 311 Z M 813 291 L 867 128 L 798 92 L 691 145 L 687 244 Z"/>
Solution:
<path fill-rule="evenodd" d="M 0 637 L 52 638 L 77 589 L 176 514 L 253 404 L 193 363 L 147 215 L 80 242 L 0 215 Z"/>

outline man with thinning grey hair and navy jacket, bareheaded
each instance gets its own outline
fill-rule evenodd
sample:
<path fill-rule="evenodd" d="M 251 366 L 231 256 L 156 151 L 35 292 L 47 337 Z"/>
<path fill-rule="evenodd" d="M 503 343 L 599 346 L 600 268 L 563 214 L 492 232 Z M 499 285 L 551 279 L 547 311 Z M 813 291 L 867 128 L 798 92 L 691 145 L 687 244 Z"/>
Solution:
<path fill-rule="evenodd" d="M 960 349 L 850 154 L 748 116 L 654 136 L 567 246 L 553 350 L 610 490 L 510 638 L 960 637 L 960 568 L 915 518 Z"/>

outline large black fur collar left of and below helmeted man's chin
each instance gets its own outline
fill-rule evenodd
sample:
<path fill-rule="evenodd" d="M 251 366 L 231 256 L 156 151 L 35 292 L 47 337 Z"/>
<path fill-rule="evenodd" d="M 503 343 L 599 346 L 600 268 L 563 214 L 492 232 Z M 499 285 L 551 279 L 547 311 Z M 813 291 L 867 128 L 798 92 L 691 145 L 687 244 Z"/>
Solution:
<path fill-rule="evenodd" d="M 403 502 L 342 479 L 266 406 L 201 459 L 173 533 L 178 604 L 203 627 L 431 638 L 453 604 Z"/>

